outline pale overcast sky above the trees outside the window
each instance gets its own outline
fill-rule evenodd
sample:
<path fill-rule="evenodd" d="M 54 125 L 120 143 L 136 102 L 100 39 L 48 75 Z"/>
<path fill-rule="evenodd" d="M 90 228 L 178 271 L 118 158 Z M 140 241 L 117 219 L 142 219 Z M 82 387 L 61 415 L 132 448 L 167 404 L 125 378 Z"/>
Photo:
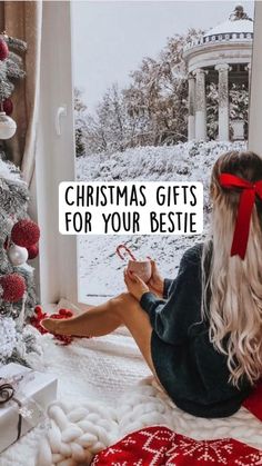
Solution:
<path fill-rule="evenodd" d="M 253 1 L 72 1 L 74 85 L 89 110 L 112 82 L 125 86 L 145 56 L 155 57 L 168 37 L 190 27 L 210 29 L 236 4 L 253 18 Z"/>

